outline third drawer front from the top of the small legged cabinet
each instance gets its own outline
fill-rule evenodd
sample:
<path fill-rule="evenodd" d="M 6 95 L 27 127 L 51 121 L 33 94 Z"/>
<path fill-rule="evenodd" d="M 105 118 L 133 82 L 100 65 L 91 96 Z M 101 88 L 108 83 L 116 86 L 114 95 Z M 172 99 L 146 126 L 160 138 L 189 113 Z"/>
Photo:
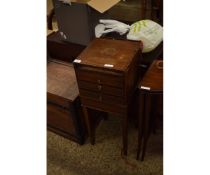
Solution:
<path fill-rule="evenodd" d="M 105 104 L 125 104 L 125 98 L 123 97 L 117 97 L 117 96 L 112 96 L 112 95 L 107 95 L 103 93 L 96 93 L 93 91 L 88 91 L 84 89 L 80 89 L 80 96 L 81 98 L 88 98 L 95 100 L 97 102 L 105 103 Z"/>

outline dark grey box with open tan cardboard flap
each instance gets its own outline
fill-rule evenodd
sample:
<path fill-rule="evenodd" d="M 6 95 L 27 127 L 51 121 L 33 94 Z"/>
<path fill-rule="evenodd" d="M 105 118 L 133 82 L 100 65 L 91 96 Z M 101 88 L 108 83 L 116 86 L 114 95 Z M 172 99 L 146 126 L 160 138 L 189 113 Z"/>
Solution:
<path fill-rule="evenodd" d="M 120 0 L 71 0 L 65 4 L 53 0 L 59 32 L 65 41 L 88 45 L 95 37 L 99 19 L 109 19 L 106 13 Z"/>

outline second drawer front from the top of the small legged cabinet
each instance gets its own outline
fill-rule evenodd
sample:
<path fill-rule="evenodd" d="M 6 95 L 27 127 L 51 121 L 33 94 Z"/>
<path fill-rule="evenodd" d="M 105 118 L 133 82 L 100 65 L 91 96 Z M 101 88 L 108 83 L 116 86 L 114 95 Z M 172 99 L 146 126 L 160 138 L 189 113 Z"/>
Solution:
<path fill-rule="evenodd" d="M 107 86 L 103 84 L 95 84 L 88 81 L 78 81 L 78 85 L 81 89 L 86 89 L 90 91 L 95 91 L 120 97 L 124 96 L 123 89 L 117 87 Z"/>

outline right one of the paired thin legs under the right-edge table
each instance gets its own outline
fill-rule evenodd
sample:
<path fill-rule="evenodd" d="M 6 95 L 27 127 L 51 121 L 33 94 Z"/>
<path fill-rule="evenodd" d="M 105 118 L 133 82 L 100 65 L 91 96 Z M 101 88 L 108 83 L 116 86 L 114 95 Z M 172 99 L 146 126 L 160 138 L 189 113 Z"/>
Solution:
<path fill-rule="evenodd" d="M 151 95 L 145 94 L 144 139 L 143 139 L 143 151 L 142 151 L 141 161 L 144 160 L 146 147 L 147 147 L 147 140 L 149 137 L 150 112 L 151 112 Z"/>

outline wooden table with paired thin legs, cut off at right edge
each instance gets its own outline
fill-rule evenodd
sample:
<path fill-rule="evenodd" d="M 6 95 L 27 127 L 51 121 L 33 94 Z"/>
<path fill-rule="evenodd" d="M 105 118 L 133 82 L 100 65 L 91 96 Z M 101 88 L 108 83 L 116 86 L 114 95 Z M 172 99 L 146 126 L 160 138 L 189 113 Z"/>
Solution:
<path fill-rule="evenodd" d="M 137 160 L 141 151 L 143 140 L 143 150 L 141 160 L 144 160 L 147 141 L 150 132 L 150 120 L 153 107 L 156 104 L 155 95 L 163 94 L 163 61 L 155 60 L 149 67 L 143 79 L 138 85 L 139 89 L 139 127 L 138 127 L 138 149 Z"/>

